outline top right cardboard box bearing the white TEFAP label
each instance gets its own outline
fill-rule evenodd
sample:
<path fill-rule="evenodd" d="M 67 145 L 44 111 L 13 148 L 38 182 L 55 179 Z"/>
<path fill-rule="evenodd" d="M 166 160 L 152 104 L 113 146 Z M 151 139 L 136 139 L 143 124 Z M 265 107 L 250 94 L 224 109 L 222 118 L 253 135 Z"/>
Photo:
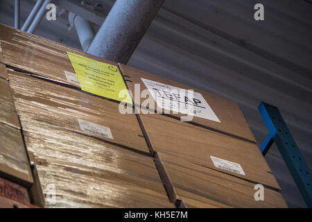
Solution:
<path fill-rule="evenodd" d="M 180 100 L 182 99 L 183 101 L 187 101 L 187 103 L 191 104 L 191 108 L 193 108 L 193 110 L 198 113 L 196 114 L 198 115 L 198 117 L 193 116 L 193 120 L 190 123 L 211 130 L 216 130 L 218 132 L 231 135 L 232 137 L 239 137 L 241 139 L 249 140 L 251 142 L 256 141 L 254 139 L 254 135 L 252 135 L 248 123 L 246 123 L 245 118 L 243 117 L 243 114 L 239 109 L 239 106 L 234 101 L 225 99 L 222 96 L 217 96 L 216 94 L 204 92 L 200 89 L 195 89 L 182 83 L 177 83 L 173 80 L 168 80 L 166 78 L 161 78 L 159 76 L 149 74 L 145 71 L 141 71 L 133 67 L 122 64 L 119 64 L 119 67 L 125 78 L 125 82 L 128 88 L 133 94 L 135 103 L 137 105 L 143 104 L 148 96 L 152 96 L 153 98 L 151 92 L 155 92 L 155 98 L 157 96 L 157 98 L 160 99 L 159 103 L 162 102 L 161 100 L 163 98 L 163 101 L 167 103 L 171 101 L 170 98 L 172 98 L 173 101 L 177 100 L 177 92 L 174 92 L 176 87 L 180 89 L 193 89 L 193 92 L 195 92 L 193 96 L 194 101 L 190 97 L 189 99 L 182 99 L 183 95 L 180 94 Z M 140 86 L 139 94 L 135 92 L 135 84 L 139 84 Z M 144 98 L 143 96 L 141 98 L 141 92 L 143 92 L 144 89 L 148 89 L 146 85 L 148 85 L 151 92 L 148 91 L 148 96 L 146 96 L 146 98 Z M 135 96 L 138 96 L 138 101 L 137 99 L 135 99 Z M 162 110 L 162 107 L 166 107 L 166 105 L 160 105 L 161 107 L 159 107 L 159 103 L 149 104 L 148 108 L 151 110 Z M 182 106 L 182 104 L 184 103 L 180 103 L 180 106 Z M 151 105 L 153 105 L 155 109 L 150 108 L 152 107 Z M 146 108 L 146 106 L 143 105 L 143 108 L 144 107 Z M 180 117 L 185 117 L 187 114 L 175 114 L 171 110 L 168 115 L 180 119 Z M 216 117 L 220 122 L 216 121 Z"/>

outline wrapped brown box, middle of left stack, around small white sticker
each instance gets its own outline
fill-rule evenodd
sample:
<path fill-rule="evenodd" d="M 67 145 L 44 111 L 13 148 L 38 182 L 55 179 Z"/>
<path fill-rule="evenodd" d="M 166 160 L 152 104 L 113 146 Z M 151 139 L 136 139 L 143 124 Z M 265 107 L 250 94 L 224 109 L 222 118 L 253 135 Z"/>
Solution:
<path fill-rule="evenodd" d="M 24 130 L 36 121 L 150 153 L 135 114 L 120 114 L 119 104 L 45 80 L 8 71 Z M 110 128 L 113 139 L 80 128 L 78 119 Z"/>

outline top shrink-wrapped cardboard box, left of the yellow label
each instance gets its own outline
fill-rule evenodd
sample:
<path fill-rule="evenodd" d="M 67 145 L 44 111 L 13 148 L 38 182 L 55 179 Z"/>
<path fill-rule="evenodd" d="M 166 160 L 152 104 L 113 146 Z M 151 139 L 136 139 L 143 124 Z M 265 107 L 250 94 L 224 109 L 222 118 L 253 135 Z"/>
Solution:
<path fill-rule="evenodd" d="M 3 62 L 6 65 L 76 87 L 77 85 L 70 83 L 64 74 L 64 71 L 75 73 L 67 56 L 67 51 L 117 66 L 114 62 L 97 58 L 83 51 L 3 24 L 0 24 L 0 45 Z"/>

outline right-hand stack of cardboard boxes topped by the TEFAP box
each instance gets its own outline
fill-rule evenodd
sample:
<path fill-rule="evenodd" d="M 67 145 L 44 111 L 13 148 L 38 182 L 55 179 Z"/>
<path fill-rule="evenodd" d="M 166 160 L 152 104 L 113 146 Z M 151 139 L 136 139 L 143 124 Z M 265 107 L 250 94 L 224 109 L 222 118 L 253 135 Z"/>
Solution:
<path fill-rule="evenodd" d="M 139 69 L 121 64 L 120 68 L 133 92 L 135 85 L 140 86 L 139 94 L 149 89 L 145 94 L 152 102 L 142 106 L 146 98 L 141 98 L 136 106 L 150 111 L 139 117 L 172 182 L 173 202 L 182 200 L 187 207 L 286 207 L 279 185 L 234 101 Z M 193 89 L 193 101 L 200 106 L 193 111 L 201 114 L 193 112 L 190 121 L 180 121 L 186 113 L 173 112 L 173 107 L 164 105 L 166 99 L 168 103 L 176 99 L 171 89 Z M 155 114 L 159 107 L 166 115 Z M 208 109 L 215 116 L 209 116 Z M 254 198 L 257 184 L 263 185 L 263 201 Z"/>

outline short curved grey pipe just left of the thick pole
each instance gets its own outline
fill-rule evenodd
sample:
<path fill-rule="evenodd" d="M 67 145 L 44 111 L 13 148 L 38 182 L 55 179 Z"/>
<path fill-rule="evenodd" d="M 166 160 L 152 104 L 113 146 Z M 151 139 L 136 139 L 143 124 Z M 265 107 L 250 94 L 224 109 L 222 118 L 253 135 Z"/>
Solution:
<path fill-rule="evenodd" d="M 69 12 L 68 15 L 69 23 L 74 25 L 78 34 L 78 38 L 83 48 L 83 51 L 87 51 L 89 45 L 91 44 L 92 40 L 94 39 L 95 33 L 94 30 L 86 19 L 80 17 L 79 15 L 75 15 Z"/>

